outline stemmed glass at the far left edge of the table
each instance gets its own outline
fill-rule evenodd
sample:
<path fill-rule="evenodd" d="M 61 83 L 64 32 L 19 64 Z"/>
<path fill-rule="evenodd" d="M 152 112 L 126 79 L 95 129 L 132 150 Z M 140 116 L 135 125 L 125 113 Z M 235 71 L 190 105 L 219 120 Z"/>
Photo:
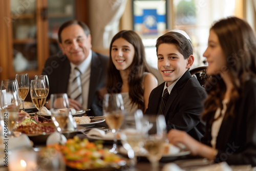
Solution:
<path fill-rule="evenodd" d="M 1 109 L 4 114 L 2 117 L 5 120 L 5 126 L 8 127 L 4 135 L 14 136 L 13 127 L 18 120 L 19 106 L 22 102 L 18 94 L 17 81 L 15 79 L 2 80 L 1 94 Z"/>

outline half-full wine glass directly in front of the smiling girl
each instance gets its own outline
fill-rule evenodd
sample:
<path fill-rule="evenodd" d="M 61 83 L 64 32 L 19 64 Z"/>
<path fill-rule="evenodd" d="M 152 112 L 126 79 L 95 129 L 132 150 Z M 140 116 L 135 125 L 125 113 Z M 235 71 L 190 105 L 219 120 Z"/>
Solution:
<path fill-rule="evenodd" d="M 114 133 L 113 147 L 110 149 L 110 152 L 117 153 L 117 131 L 122 125 L 125 115 L 121 94 L 105 94 L 103 114 L 106 117 L 106 124 L 108 124 L 112 133 Z"/>

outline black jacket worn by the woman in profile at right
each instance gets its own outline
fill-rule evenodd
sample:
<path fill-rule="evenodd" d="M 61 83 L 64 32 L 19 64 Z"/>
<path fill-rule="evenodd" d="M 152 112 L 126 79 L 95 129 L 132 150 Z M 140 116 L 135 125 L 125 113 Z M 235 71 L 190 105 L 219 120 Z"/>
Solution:
<path fill-rule="evenodd" d="M 224 117 L 221 124 L 216 139 L 218 154 L 215 161 L 256 166 L 256 78 L 245 83 L 240 95 L 233 115 Z M 202 138 L 202 142 L 209 146 L 212 119 L 214 115 L 206 119 L 206 133 Z"/>

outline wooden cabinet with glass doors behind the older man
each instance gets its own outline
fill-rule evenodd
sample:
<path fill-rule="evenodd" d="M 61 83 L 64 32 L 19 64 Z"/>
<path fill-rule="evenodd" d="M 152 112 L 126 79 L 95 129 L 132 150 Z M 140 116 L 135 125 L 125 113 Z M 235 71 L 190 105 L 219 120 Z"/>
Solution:
<path fill-rule="evenodd" d="M 61 53 L 59 26 L 71 19 L 87 20 L 84 0 L 0 1 L 0 80 L 16 73 L 40 74 L 50 55 Z"/>

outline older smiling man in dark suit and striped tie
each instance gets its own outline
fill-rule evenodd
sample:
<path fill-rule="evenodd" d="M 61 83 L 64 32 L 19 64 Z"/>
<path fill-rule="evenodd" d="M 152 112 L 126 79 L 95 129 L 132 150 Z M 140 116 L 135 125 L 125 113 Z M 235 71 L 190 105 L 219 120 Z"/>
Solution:
<path fill-rule="evenodd" d="M 97 90 L 105 86 L 109 57 L 91 50 L 91 34 L 86 24 L 71 20 L 58 31 L 63 55 L 49 57 L 42 74 L 49 77 L 50 95 L 68 93 L 71 108 L 91 109 L 90 115 L 102 115 Z"/>

